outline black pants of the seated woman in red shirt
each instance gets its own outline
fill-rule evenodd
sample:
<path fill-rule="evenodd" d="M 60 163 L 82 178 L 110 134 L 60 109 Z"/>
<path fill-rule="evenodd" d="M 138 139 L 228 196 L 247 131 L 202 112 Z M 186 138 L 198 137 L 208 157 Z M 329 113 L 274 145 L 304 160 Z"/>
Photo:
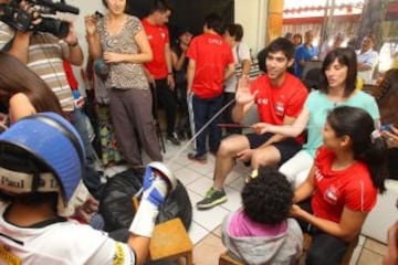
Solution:
<path fill-rule="evenodd" d="M 313 213 L 311 199 L 298 203 L 298 205 L 306 212 Z M 305 221 L 297 219 L 297 222 L 302 231 L 311 234 L 313 239 L 305 258 L 306 265 L 337 265 L 342 263 L 349 243 L 311 226 Z"/>

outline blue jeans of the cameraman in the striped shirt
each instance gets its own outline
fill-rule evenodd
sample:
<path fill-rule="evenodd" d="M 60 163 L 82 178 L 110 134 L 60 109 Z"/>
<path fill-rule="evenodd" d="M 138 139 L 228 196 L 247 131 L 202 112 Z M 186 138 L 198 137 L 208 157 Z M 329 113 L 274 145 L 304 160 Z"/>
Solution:
<path fill-rule="evenodd" d="M 95 157 L 88 137 L 87 125 L 85 121 L 84 114 L 80 108 L 75 108 L 73 112 L 71 112 L 71 123 L 77 130 L 84 145 L 86 161 L 84 165 L 84 170 L 82 176 L 83 182 L 87 187 L 88 191 L 93 195 L 95 195 L 95 193 L 98 191 L 101 187 L 101 179 L 98 172 L 95 170 L 95 166 L 94 166 Z"/>

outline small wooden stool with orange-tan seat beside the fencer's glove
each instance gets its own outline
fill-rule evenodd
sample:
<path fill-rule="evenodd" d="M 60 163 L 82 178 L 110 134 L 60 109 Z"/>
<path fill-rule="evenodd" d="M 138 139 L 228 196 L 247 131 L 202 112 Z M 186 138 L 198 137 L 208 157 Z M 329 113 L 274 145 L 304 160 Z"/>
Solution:
<path fill-rule="evenodd" d="M 133 197 L 134 208 L 138 209 L 138 199 Z M 155 225 L 149 244 L 150 261 L 186 258 L 186 265 L 193 264 L 193 244 L 179 218 Z"/>

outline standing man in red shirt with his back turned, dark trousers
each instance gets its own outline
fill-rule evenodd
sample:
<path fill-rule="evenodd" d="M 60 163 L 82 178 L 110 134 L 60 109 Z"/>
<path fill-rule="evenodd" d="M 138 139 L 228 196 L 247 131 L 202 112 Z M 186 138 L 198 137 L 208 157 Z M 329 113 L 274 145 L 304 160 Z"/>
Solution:
<path fill-rule="evenodd" d="M 203 34 L 195 38 L 187 51 L 188 95 L 191 95 L 195 132 L 198 132 L 222 107 L 223 82 L 234 73 L 231 46 L 222 39 L 221 18 L 209 14 L 205 20 Z M 209 125 L 210 152 L 217 152 L 221 141 L 219 116 Z M 196 153 L 190 160 L 206 163 L 206 131 L 196 139 Z"/>

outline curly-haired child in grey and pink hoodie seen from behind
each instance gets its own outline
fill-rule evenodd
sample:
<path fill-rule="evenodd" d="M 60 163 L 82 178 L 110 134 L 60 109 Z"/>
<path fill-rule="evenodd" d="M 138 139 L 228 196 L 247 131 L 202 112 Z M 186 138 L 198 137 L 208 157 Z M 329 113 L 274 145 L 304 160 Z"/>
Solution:
<path fill-rule="evenodd" d="M 244 186 L 243 206 L 222 223 L 222 242 L 244 264 L 296 264 L 303 248 L 303 233 L 289 219 L 293 190 L 286 177 L 274 168 L 260 168 Z"/>

